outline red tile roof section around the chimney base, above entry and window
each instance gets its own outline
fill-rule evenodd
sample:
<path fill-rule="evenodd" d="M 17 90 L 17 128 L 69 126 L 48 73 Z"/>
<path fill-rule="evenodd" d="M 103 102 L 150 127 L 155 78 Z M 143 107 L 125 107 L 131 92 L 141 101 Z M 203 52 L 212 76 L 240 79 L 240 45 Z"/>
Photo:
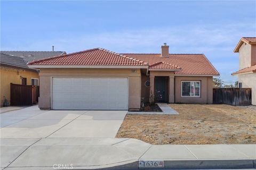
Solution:
<path fill-rule="evenodd" d="M 204 54 L 124 54 L 149 63 L 149 69 L 181 69 L 175 74 L 206 74 L 219 75 L 219 72 L 207 60 Z M 164 64 L 157 64 L 164 63 Z M 156 65 L 154 65 L 156 64 Z M 175 68 L 176 67 L 176 68 Z"/>

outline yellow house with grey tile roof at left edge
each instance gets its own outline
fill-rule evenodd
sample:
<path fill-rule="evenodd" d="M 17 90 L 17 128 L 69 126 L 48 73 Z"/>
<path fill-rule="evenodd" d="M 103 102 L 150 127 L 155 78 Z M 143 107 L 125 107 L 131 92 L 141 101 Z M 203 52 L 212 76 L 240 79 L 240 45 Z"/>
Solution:
<path fill-rule="evenodd" d="M 38 70 L 30 69 L 27 63 L 65 52 L 1 51 L 1 106 L 4 96 L 10 103 L 10 83 L 38 85 Z"/>

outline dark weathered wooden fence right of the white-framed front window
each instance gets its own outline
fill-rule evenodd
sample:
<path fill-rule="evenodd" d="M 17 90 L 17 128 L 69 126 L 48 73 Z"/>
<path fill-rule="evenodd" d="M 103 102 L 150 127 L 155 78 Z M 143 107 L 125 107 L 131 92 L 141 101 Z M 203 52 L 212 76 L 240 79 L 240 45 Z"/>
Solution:
<path fill-rule="evenodd" d="M 252 104 L 251 88 L 214 88 L 213 104 L 247 106 Z"/>

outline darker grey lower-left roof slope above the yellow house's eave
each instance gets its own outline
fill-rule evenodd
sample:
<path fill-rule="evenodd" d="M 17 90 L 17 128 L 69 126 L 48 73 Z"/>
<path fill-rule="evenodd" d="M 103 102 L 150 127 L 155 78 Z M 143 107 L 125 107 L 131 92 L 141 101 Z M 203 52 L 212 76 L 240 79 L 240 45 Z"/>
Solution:
<path fill-rule="evenodd" d="M 3 54 L 3 53 L 1 53 L 0 55 L 0 63 L 28 68 L 27 63 L 22 58 Z"/>

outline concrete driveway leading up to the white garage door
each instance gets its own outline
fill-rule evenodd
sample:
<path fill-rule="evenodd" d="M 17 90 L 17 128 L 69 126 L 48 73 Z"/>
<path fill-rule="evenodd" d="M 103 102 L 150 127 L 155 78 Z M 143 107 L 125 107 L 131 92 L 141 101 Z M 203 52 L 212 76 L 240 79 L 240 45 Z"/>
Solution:
<path fill-rule="evenodd" d="M 1 138 L 115 138 L 127 111 L 41 111 L 1 114 Z"/>

